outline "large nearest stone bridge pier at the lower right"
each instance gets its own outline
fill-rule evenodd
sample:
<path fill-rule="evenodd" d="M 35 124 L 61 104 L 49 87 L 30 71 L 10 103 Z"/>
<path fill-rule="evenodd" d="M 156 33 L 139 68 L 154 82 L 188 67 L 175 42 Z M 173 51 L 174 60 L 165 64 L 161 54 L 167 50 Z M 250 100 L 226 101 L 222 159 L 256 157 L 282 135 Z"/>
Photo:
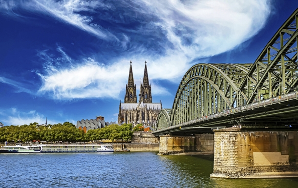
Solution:
<path fill-rule="evenodd" d="M 211 177 L 298 177 L 297 130 L 214 131 L 214 165 Z"/>

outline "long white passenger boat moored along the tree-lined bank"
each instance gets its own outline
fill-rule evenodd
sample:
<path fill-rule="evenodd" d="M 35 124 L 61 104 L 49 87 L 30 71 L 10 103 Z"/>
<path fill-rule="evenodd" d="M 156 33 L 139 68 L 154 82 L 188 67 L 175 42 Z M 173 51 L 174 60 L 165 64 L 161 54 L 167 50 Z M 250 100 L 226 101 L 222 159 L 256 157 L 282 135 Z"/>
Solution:
<path fill-rule="evenodd" d="M 60 152 L 114 152 L 112 145 L 36 145 L 1 146 L 0 153 L 60 153 Z"/>

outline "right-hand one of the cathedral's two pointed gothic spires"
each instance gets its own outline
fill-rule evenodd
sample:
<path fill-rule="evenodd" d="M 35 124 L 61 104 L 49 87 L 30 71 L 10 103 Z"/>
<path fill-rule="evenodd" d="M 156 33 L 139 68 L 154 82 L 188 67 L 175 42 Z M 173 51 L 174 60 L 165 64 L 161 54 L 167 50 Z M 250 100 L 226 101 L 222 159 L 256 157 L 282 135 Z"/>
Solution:
<path fill-rule="evenodd" d="M 145 61 L 143 84 L 140 86 L 139 103 L 152 103 L 151 85 L 149 84 L 147 62 Z"/>

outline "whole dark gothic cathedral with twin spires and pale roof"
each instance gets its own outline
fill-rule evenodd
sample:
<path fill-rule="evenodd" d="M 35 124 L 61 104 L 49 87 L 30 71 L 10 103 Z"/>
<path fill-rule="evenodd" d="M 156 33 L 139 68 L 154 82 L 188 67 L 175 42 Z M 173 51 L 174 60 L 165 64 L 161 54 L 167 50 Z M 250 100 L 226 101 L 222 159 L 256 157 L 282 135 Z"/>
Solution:
<path fill-rule="evenodd" d="M 124 103 L 119 105 L 118 125 L 121 124 L 142 124 L 145 131 L 156 130 L 158 114 L 162 109 L 160 103 L 152 103 L 151 85 L 149 84 L 147 62 L 145 61 L 143 84 L 140 85 L 139 102 L 137 103 L 137 90 L 134 84 L 132 66 L 130 61 L 128 84 Z"/>

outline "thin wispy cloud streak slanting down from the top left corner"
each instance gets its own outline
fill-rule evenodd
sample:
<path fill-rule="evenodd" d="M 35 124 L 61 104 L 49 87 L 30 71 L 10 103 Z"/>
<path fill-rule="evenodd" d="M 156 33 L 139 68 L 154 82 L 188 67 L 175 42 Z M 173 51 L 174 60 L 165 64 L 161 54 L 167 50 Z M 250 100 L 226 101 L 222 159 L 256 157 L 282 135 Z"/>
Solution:
<path fill-rule="evenodd" d="M 83 12 L 94 12 L 96 8 L 110 8 L 97 0 L 1 0 L 0 9 L 11 13 L 14 9 L 43 13 L 60 21 L 74 25 L 105 40 L 118 40 L 105 28 L 92 22 L 92 17 Z"/>

